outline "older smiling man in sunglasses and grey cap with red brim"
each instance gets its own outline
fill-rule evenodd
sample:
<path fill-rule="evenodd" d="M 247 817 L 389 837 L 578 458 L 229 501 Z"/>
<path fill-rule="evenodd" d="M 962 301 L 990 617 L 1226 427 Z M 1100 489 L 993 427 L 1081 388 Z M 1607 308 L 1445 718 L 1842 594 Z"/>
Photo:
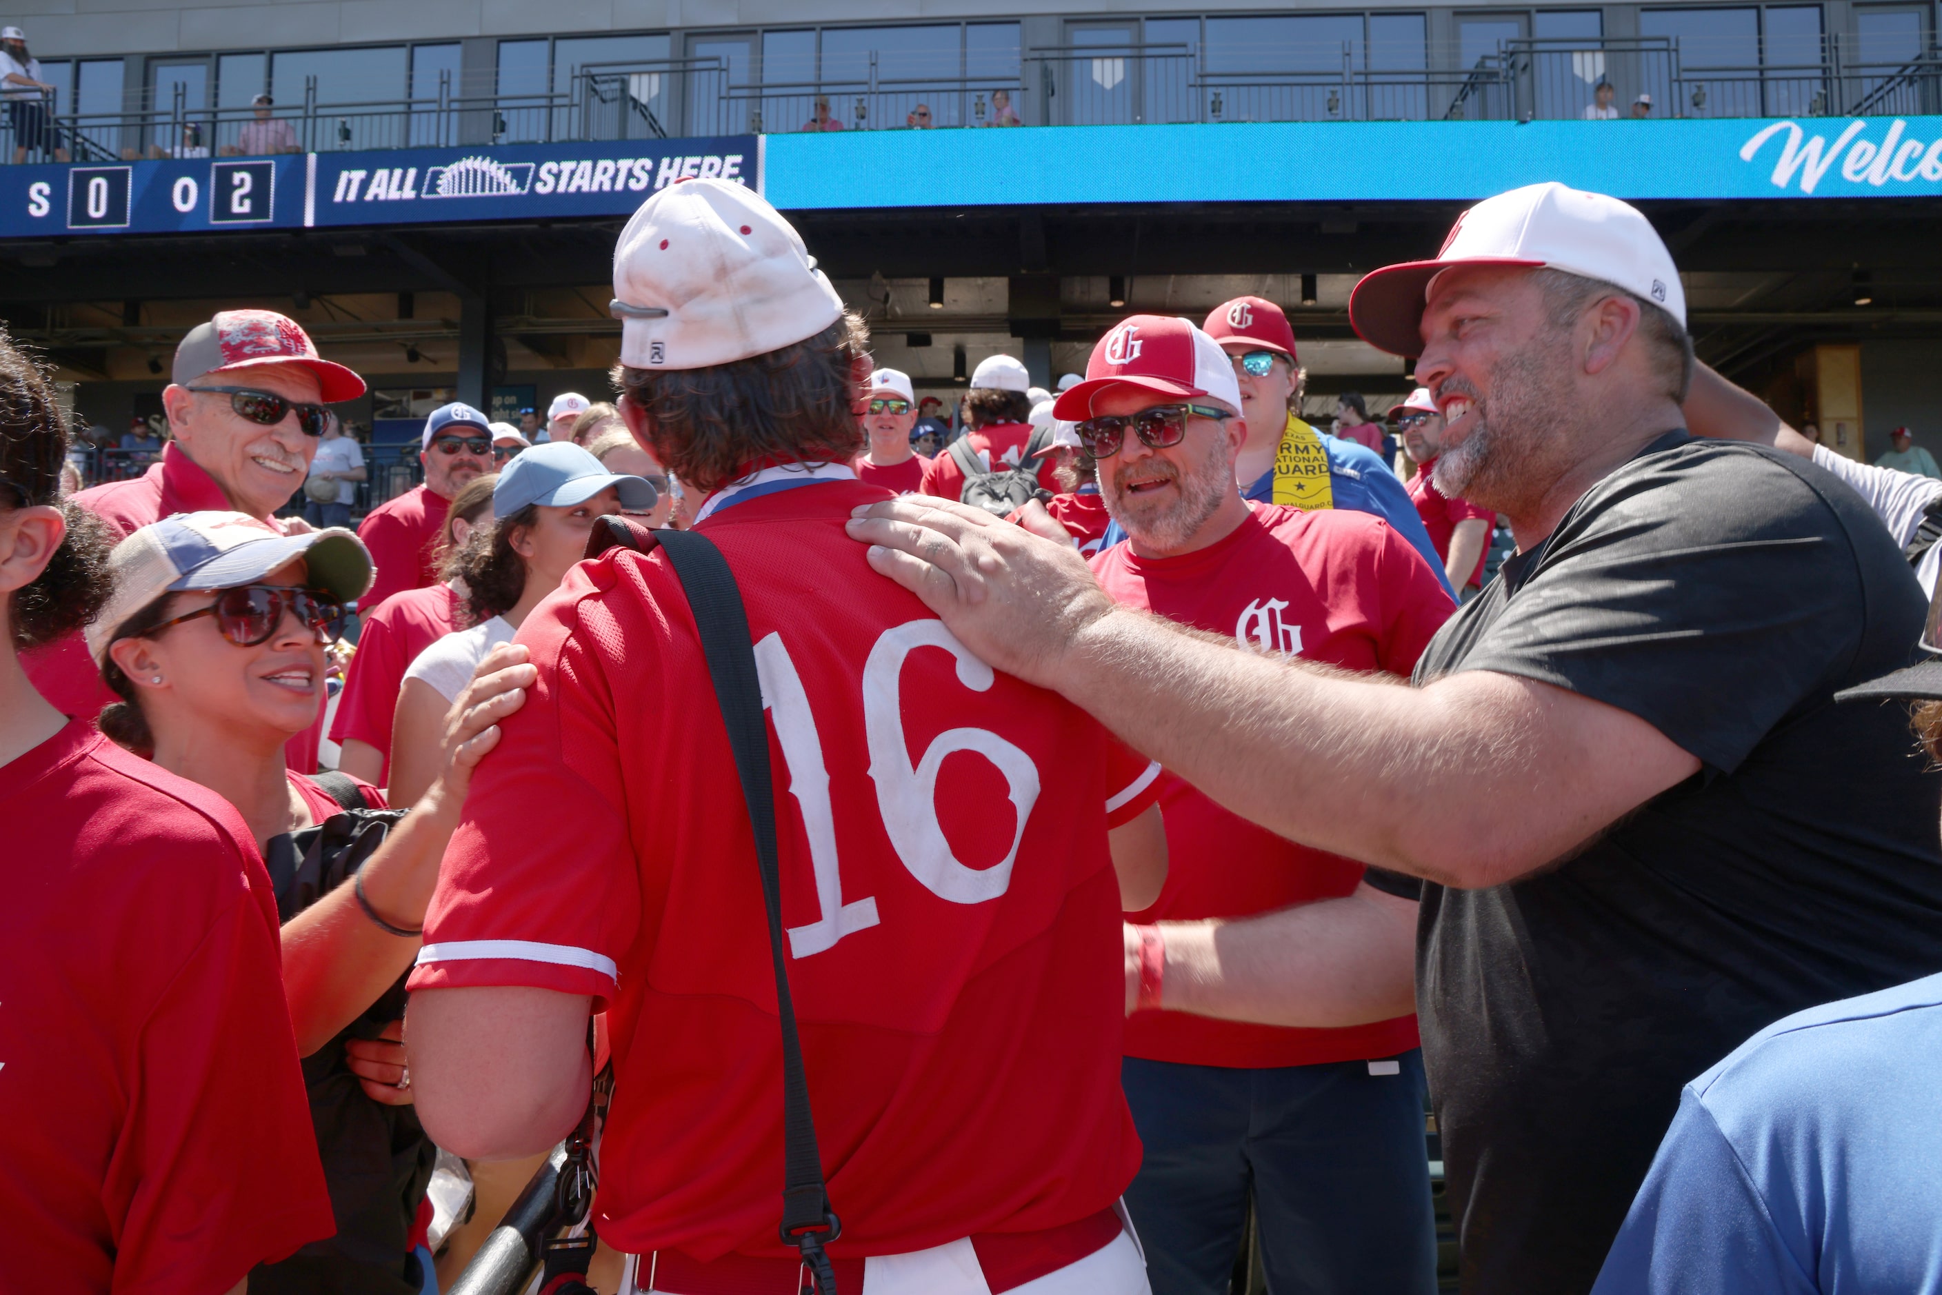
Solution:
<path fill-rule="evenodd" d="M 161 462 L 130 481 L 74 495 L 120 540 L 177 513 L 247 513 L 278 530 L 276 511 L 303 485 L 324 433 L 326 404 L 355 400 L 363 379 L 317 353 L 297 320 L 274 311 L 219 311 L 175 348 L 161 392 L 169 443 Z M 367 604 L 367 606 L 377 606 Z M 97 716 L 117 701 L 74 633 L 21 658 L 27 678 L 62 714 Z M 289 744 L 293 769 L 317 769 L 320 726 Z"/>

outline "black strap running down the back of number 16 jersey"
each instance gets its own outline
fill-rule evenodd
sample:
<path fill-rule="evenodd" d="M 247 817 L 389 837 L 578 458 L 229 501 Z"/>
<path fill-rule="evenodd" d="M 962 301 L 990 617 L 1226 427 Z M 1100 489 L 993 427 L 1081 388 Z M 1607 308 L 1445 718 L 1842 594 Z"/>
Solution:
<path fill-rule="evenodd" d="M 750 643 L 742 592 L 720 549 L 691 530 L 654 532 L 674 567 L 687 606 L 701 633 L 701 652 L 715 681 L 728 726 L 728 746 L 742 779 L 748 821 L 755 833 L 755 860 L 761 866 L 761 897 L 769 911 L 769 955 L 775 961 L 775 1006 L 783 1019 L 783 1243 L 802 1252 L 816 1291 L 835 1295 L 837 1278 L 823 1246 L 843 1235 L 843 1223 L 829 1208 L 823 1159 L 816 1147 L 810 1116 L 810 1085 L 802 1072 L 802 1039 L 796 1008 L 788 996 L 788 963 L 783 953 L 783 872 L 775 845 L 775 790 L 769 777 L 769 726 L 761 714 L 761 680 Z"/>

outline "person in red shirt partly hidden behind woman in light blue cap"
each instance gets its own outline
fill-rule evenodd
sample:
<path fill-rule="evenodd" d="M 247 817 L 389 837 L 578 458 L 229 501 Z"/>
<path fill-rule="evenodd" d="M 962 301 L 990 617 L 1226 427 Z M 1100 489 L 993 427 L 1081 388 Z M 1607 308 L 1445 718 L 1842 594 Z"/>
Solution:
<path fill-rule="evenodd" d="M 486 474 L 452 495 L 439 530 L 439 567 L 464 548 L 478 526 L 491 526 L 491 487 Z M 425 588 L 392 594 L 369 612 L 357 633 L 357 652 L 344 678 L 344 695 L 330 722 L 338 744 L 338 771 L 375 786 L 390 775 L 390 716 L 398 711 L 404 672 L 427 647 L 464 625 L 464 582 L 447 577 Z"/>

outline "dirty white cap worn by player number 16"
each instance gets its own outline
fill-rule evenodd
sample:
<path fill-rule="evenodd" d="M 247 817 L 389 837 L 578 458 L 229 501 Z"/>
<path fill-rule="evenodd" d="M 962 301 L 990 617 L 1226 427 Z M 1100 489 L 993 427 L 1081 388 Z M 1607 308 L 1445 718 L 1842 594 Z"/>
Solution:
<path fill-rule="evenodd" d="M 621 229 L 610 309 L 623 365 L 707 369 L 814 338 L 843 316 L 843 297 L 761 194 L 695 179 Z"/>

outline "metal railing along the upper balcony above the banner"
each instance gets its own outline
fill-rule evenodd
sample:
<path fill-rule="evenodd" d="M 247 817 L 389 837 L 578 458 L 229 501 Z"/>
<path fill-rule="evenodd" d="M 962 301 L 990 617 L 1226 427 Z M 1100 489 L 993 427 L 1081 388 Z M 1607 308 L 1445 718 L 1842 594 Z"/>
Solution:
<path fill-rule="evenodd" d="M 1020 54 L 994 76 L 899 76 L 870 52 L 847 78 L 736 82 L 722 58 L 658 58 L 575 68 L 565 89 L 460 95 L 451 72 L 421 99 L 326 103 L 307 78 L 303 103 L 258 118 L 254 109 L 171 101 L 128 113 L 76 113 L 58 97 L 0 120 L 0 157 L 249 155 L 266 151 L 552 144 L 812 130 L 963 126 L 1089 126 L 1288 120 L 1571 120 L 1594 116 L 1596 87 L 1629 115 L 1639 93 L 1653 116 L 1858 116 L 1942 111 L 1942 50 L 1862 58 L 1824 37 L 1814 58 L 1721 66 L 1682 58 L 1672 37 L 1521 39 L 1464 66 L 1427 49 L 1418 68 L 1369 68 L 1340 43 L 1282 50 L 1187 45 L 1068 45 Z M 1703 58 L 1703 54 L 1701 54 Z M 1245 66 L 1251 70 L 1231 70 Z M 1266 70 L 1262 70 L 1266 68 Z"/>

